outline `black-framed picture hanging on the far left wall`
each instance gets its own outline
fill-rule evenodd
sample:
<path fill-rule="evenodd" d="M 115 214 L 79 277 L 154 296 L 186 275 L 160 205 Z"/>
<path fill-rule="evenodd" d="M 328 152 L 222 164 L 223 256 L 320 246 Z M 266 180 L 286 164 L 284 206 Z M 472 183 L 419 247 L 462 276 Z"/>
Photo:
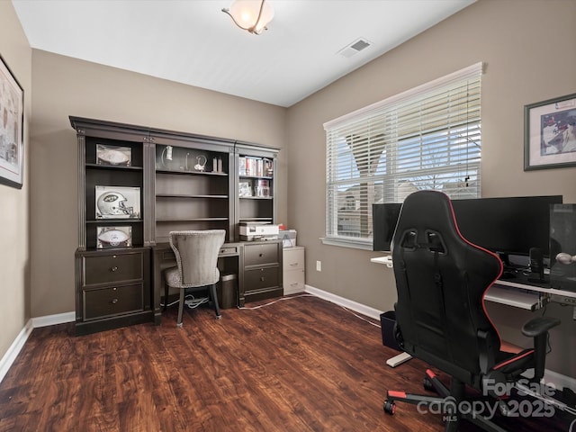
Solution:
<path fill-rule="evenodd" d="M 0 56 L 0 183 L 23 185 L 24 91 Z"/>

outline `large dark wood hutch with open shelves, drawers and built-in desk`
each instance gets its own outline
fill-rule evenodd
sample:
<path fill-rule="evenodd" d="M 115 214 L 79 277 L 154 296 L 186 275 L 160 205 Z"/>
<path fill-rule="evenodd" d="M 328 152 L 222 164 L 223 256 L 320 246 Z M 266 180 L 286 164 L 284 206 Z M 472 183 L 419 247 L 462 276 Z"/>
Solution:
<path fill-rule="evenodd" d="M 236 303 L 283 294 L 282 242 L 239 241 L 240 222 L 277 223 L 278 148 L 70 117 L 78 146 L 76 334 L 161 320 L 171 230 L 225 229 L 222 275 Z"/>

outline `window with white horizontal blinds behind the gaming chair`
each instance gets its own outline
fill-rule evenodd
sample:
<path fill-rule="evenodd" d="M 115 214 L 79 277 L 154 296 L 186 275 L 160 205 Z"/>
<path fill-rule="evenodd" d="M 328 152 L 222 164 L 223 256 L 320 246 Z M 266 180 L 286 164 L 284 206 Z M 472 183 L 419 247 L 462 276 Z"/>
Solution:
<path fill-rule="evenodd" d="M 482 63 L 324 124 L 326 238 L 372 249 L 372 204 L 480 197 Z"/>

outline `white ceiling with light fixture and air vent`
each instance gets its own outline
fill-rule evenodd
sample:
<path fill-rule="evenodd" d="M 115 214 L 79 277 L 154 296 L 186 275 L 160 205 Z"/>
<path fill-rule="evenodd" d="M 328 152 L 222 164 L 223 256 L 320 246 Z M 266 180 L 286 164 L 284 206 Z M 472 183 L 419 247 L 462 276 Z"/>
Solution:
<path fill-rule="evenodd" d="M 291 106 L 475 0 L 268 0 L 253 35 L 230 0 L 13 0 L 33 49 Z M 338 53 L 364 39 L 371 46 Z"/>

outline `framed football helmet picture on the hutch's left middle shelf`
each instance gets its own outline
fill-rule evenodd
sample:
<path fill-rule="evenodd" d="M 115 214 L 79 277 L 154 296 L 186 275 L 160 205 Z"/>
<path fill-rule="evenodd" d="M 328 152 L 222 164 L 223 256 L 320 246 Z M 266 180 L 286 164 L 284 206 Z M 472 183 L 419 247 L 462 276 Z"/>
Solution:
<path fill-rule="evenodd" d="M 140 219 L 140 188 L 95 186 L 96 219 Z"/>

